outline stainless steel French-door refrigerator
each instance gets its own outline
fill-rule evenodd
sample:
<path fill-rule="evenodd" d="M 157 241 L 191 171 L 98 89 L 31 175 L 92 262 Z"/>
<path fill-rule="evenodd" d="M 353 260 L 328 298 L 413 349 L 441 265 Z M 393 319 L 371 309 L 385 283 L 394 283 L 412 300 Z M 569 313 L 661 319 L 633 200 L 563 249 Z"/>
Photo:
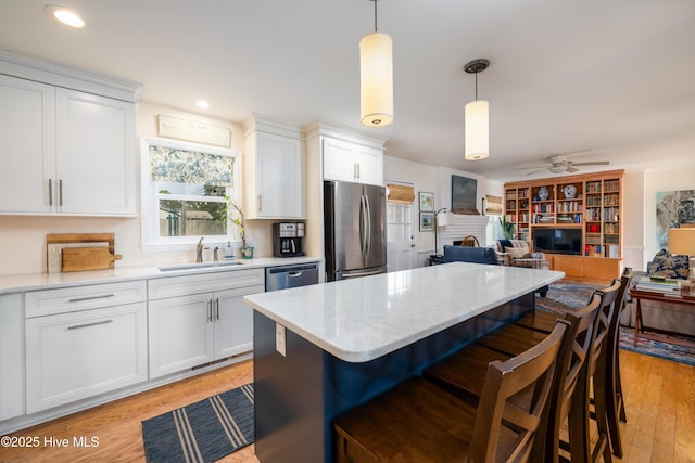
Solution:
<path fill-rule="evenodd" d="M 383 187 L 324 182 L 328 281 L 386 273 L 386 210 Z"/>

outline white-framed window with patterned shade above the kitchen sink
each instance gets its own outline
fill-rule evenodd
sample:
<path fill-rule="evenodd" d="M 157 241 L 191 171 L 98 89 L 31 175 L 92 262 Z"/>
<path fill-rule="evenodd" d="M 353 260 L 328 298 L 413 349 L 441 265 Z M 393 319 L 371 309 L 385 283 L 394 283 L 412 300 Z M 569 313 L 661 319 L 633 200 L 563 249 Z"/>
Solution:
<path fill-rule="evenodd" d="M 230 150 L 143 139 L 143 247 L 235 241 L 228 205 L 235 200 L 235 155 Z"/>

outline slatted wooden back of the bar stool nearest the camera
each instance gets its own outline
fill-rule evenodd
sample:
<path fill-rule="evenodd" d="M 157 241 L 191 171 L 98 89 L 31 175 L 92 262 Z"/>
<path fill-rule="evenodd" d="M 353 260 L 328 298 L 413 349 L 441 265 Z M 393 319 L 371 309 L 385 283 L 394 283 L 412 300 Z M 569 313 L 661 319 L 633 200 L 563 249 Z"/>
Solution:
<path fill-rule="evenodd" d="M 544 435 L 544 414 L 567 326 L 567 322 L 558 321 L 540 344 L 505 362 L 490 362 L 476 413 L 468 461 L 529 460 L 536 435 Z M 501 439 L 503 422 L 504 427 L 517 432 L 514 439 L 504 439 L 504 445 Z"/>

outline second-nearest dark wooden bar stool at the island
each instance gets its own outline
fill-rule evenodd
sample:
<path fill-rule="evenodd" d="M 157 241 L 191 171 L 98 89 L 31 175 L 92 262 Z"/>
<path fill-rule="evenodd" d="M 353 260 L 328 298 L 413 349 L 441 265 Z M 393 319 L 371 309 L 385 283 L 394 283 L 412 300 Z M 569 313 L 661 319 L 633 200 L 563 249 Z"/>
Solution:
<path fill-rule="evenodd" d="M 569 327 L 556 364 L 553 395 L 551 396 L 546 423 L 545 446 L 541 449 L 543 454 L 535 454 L 534 461 L 557 462 L 559 459 L 560 426 L 569 414 L 577 384 L 582 375 L 585 374 L 583 373 L 583 364 L 591 347 L 594 319 L 602 298 L 603 295 L 594 294 L 586 307 L 565 316 L 565 321 L 569 324 Z M 557 320 L 555 323 L 557 323 Z M 497 336 L 505 343 L 501 346 L 489 339 L 489 337 L 497 335 L 500 332 L 507 332 Z M 511 333 L 516 333 L 517 337 L 515 338 Z M 477 403 L 483 390 L 480 377 L 481 372 L 484 371 L 484 362 L 507 359 L 514 355 L 514 351 L 522 348 L 523 343 L 528 345 L 536 343 L 538 336 L 545 337 L 547 334 L 541 334 L 520 326 L 504 326 L 493 335 L 480 339 L 479 344 L 467 346 L 453 356 L 435 363 L 427 369 L 424 375 L 465 400 Z M 509 340 L 509 345 L 506 345 Z M 581 424 L 581 422 L 577 424 Z M 576 460 L 581 461 L 581 456 L 585 454 L 585 449 L 582 447 L 584 429 L 572 426 L 570 423 L 569 433 L 570 442 L 573 441 L 576 446 L 572 454 L 576 455 Z"/>

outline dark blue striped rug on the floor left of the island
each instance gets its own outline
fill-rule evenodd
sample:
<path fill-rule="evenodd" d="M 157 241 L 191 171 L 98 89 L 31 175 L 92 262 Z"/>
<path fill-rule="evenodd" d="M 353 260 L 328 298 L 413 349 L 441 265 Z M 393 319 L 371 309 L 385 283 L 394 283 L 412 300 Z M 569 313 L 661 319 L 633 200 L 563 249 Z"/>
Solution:
<path fill-rule="evenodd" d="M 142 422 L 144 455 L 156 462 L 214 462 L 253 443 L 253 383 Z"/>

